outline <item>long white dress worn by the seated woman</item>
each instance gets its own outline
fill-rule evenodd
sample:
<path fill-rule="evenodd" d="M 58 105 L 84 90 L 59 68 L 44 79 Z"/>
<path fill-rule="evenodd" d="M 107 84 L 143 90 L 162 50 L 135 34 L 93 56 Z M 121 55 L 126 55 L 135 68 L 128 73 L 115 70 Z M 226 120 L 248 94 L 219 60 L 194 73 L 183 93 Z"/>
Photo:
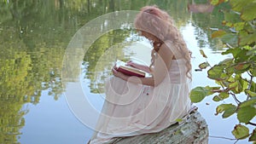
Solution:
<path fill-rule="evenodd" d="M 183 59 L 172 60 L 166 78 L 156 87 L 108 78 L 102 115 L 90 144 L 166 129 L 189 112 L 189 85 Z"/>

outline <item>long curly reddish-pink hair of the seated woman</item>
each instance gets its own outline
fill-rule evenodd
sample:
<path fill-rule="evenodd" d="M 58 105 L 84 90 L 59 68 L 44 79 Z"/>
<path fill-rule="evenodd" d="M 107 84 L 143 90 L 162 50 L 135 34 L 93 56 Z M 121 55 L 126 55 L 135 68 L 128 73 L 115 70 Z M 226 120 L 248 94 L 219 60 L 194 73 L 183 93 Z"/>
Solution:
<path fill-rule="evenodd" d="M 161 44 L 167 40 L 172 42 L 172 45 L 177 52 L 186 60 L 186 75 L 191 79 L 191 51 L 187 48 L 187 44 L 183 40 L 182 34 L 174 26 L 173 20 L 166 11 L 159 9 L 157 6 L 143 7 L 134 21 L 134 26 L 139 32 L 146 32 L 154 36 L 151 56 L 151 66 L 154 65 L 154 54 L 158 52 Z M 171 50 L 172 50 L 171 49 Z M 174 55 L 175 56 L 175 55 Z M 177 59 L 177 57 L 176 57 Z"/>

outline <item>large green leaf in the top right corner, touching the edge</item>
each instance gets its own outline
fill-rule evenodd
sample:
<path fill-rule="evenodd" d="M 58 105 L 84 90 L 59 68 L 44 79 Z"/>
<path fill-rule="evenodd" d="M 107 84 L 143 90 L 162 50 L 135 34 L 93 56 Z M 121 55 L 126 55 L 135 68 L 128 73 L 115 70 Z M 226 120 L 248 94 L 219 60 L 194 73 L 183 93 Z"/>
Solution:
<path fill-rule="evenodd" d="M 242 20 L 254 20 L 256 18 L 256 3 L 248 3 L 241 11 L 241 19 Z"/>

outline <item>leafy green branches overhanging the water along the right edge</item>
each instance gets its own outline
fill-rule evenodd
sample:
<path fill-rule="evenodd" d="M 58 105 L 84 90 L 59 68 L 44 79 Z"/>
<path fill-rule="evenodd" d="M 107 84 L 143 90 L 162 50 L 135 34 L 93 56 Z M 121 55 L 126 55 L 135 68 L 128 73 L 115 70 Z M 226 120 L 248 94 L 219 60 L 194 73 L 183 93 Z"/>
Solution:
<path fill-rule="evenodd" d="M 207 95 L 213 95 L 212 101 L 221 102 L 232 96 L 236 103 L 222 103 L 216 108 L 216 115 L 223 113 L 222 118 L 228 118 L 236 113 L 240 124 L 236 124 L 232 134 L 237 140 L 256 140 L 256 130 L 251 133 L 248 124 L 255 126 L 252 119 L 256 115 L 256 3 L 253 0 L 212 0 L 212 4 L 230 3 L 231 8 L 223 10 L 224 21 L 228 31 L 212 32 L 212 38 L 220 38 L 226 43 L 227 49 L 222 55 L 232 55 L 232 58 L 219 61 L 210 66 L 206 61 L 199 67 L 207 70 L 207 77 L 214 80 L 220 87 L 196 87 L 190 92 L 193 102 L 202 101 Z M 207 55 L 200 50 L 201 55 Z M 239 95 L 240 99 L 237 99 Z M 242 97 L 243 96 L 243 97 Z M 243 101 L 240 101 L 243 100 Z M 244 125 L 241 125 L 244 124 Z"/>

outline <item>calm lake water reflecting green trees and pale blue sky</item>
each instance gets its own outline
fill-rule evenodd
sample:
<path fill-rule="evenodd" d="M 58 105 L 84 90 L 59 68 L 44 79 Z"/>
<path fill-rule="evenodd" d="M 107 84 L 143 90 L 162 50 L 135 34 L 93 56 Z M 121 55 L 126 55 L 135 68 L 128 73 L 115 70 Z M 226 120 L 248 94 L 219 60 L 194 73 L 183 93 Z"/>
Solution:
<path fill-rule="evenodd" d="M 165 9 L 183 33 L 193 52 L 192 87 L 214 85 L 207 71 L 194 70 L 205 61 L 199 49 L 212 65 L 229 57 L 220 55 L 223 43 L 211 39 L 212 30 L 222 27 L 219 9 L 228 6 L 196 13 L 189 7 L 196 3 L 208 7 L 206 0 L 0 0 L 0 143 L 86 143 L 114 60 L 149 63 L 148 41 L 138 37 L 129 23 L 131 10 L 145 5 Z M 107 20 L 108 14 L 120 17 Z M 113 31 L 108 31 L 111 26 Z M 232 139 L 236 116 L 215 116 L 219 103 L 211 99 L 195 104 L 207 120 L 209 143 L 234 143 L 216 136 Z"/>

